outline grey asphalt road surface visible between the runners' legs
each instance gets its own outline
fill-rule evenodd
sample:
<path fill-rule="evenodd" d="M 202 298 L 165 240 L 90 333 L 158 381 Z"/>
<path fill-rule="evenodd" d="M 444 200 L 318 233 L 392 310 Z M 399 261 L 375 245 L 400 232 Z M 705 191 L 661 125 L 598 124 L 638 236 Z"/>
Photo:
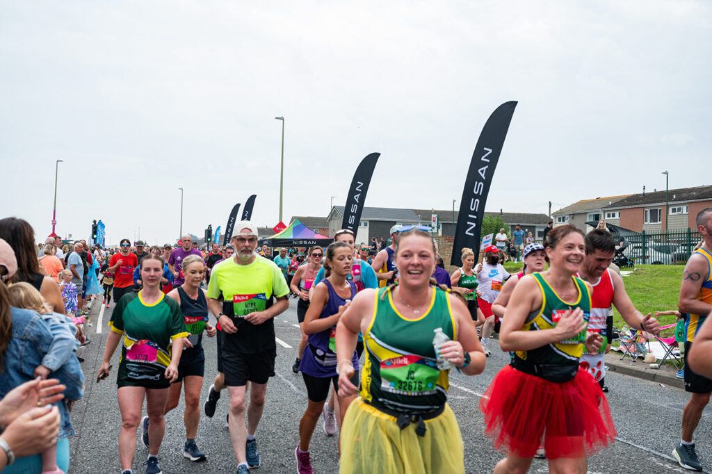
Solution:
<path fill-rule="evenodd" d="M 101 362 L 104 342 L 108 332 L 108 312 L 93 313 L 93 327 L 88 328 L 91 344 L 85 347 L 86 375 L 85 398 L 75 404 L 72 418 L 78 435 L 71 442 L 72 473 L 120 473 L 118 436 L 121 418 L 116 400 L 115 370 L 108 381 L 95 383 L 95 374 Z M 102 320 L 99 323 L 99 320 Z M 291 371 L 299 340 L 296 327 L 295 300 L 290 308 L 276 318 L 277 347 L 276 376 L 269 382 L 265 414 L 257 438 L 262 456 L 258 472 L 295 473 L 294 448 L 298 443 L 298 421 L 306 406 L 306 390 L 300 375 Z M 99 332 L 100 331 L 100 332 Z M 493 340 L 496 344 L 496 341 Z M 204 338 L 206 352 L 206 397 L 209 379 L 216 373 L 216 345 L 214 339 Z M 496 346 L 495 346 L 496 347 Z M 117 354 L 118 354 L 117 350 Z M 112 362 L 117 367 L 118 357 Z M 485 372 L 479 376 L 451 374 L 449 403 L 454 410 L 465 443 L 465 468 L 467 473 L 491 473 L 502 458 L 493 451 L 483 434 L 483 418 L 478 410 L 481 394 L 486 390 L 496 372 L 507 362 L 508 356 L 493 351 Z M 671 458 L 671 451 L 680 439 L 682 409 L 689 397 L 681 389 L 609 373 L 607 384 L 609 404 L 619 440 L 606 451 L 590 458 L 590 473 L 667 473 L 689 472 L 681 469 Z M 183 458 L 184 426 L 181 409 L 166 418 L 166 436 L 159 456 L 164 473 L 234 473 L 236 462 L 224 427 L 228 411 L 227 393 L 219 401 L 214 418 L 201 418 L 198 445 L 208 455 L 204 463 L 191 463 Z M 712 408 L 706 409 L 696 432 L 697 453 L 705 472 L 712 472 Z M 133 468 L 144 472 L 147 451 L 139 446 Z M 328 437 L 319 424 L 311 445 L 312 462 L 316 473 L 337 473 L 337 439 Z M 545 460 L 535 460 L 530 472 L 546 473 Z"/>

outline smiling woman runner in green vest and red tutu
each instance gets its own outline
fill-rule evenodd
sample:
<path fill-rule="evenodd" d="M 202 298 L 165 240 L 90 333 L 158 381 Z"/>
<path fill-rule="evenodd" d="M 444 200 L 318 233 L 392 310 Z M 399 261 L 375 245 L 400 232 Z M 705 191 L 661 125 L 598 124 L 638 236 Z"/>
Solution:
<path fill-rule="evenodd" d="M 585 473 L 587 456 L 616 431 L 600 386 L 579 369 L 584 350 L 602 337 L 587 334 L 591 287 L 575 277 L 584 236 L 560 226 L 545 239 L 549 270 L 519 280 L 502 322 L 500 344 L 511 365 L 492 381 L 480 409 L 495 448 L 508 452 L 495 473 L 525 473 L 543 438 L 550 472 Z"/>

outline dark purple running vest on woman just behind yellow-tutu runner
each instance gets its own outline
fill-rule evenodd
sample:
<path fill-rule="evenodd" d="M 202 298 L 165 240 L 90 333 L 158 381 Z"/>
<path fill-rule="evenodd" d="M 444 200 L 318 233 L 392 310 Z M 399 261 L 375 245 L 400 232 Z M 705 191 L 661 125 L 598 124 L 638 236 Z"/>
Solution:
<path fill-rule="evenodd" d="M 326 285 L 326 288 L 329 291 L 329 300 L 326 302 L 326 305 L 324 305 L 324 309 L 321 311 L 319 319 L 335 315 L 339 312 L 339 307 L 345 305 L 347 302 L 347 300 L 340 297 L 336 293 L 329 280 L 322 280 L 322 282 Z M 349 281 L 348 283 L 351 288 L 351 297 L 349 300 L 352 300 L 357 293 L 357 288 L 356 284 L 352 281 Z M 304 351 L 302 361 L 299 364 L 300 372 L 320 378 L 337 376 L 336 346 L 334 340 L 335 332 L 336 326 L 330 327 L 328 330 L 309 335 L 309 345 Z M 358 370 L 358 357 L 355 351 L 352 357 L 352 364 L 354 365 L 354 369 Z"/>

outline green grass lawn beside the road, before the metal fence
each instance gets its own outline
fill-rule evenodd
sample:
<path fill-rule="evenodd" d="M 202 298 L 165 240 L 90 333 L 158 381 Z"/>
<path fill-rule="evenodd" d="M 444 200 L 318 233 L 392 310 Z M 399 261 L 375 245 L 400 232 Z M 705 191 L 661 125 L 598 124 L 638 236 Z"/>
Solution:
<path fill-rule="evenodd" d="M 521 270 L 521 263 L 507 262 L 504 268 L 509 273 Z M 623 278 L 626 291 L 637 309 L 646 315 L 656 311 L 676 310 L 680 294 L 680 283 L 684 265 L 637 265 L 630 275 Z M 629 268 L 623 268 L 629 271 Z M 661 316 L 660 325 L 666 326 L 675 322 L 674 316 Z M 613 313 L 613 325 L 620 329 L 624 320 L 617 310 Z M 664 334 L 671 336 L 674 328 Z"/>

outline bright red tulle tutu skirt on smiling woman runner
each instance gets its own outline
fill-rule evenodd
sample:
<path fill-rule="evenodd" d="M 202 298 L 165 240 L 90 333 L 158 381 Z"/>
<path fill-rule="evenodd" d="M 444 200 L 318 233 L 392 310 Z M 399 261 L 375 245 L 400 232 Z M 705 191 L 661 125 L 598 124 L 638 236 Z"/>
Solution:
<path fill-rule="evenodd" d="M 494 447 L 520 458 L 533 458 L 542 444 L 548 459 L 584 458 L 616 437 L 608 401 L 582 369 L 557 383 L 508 365 L 488 387 L 480 410 Z"/>

